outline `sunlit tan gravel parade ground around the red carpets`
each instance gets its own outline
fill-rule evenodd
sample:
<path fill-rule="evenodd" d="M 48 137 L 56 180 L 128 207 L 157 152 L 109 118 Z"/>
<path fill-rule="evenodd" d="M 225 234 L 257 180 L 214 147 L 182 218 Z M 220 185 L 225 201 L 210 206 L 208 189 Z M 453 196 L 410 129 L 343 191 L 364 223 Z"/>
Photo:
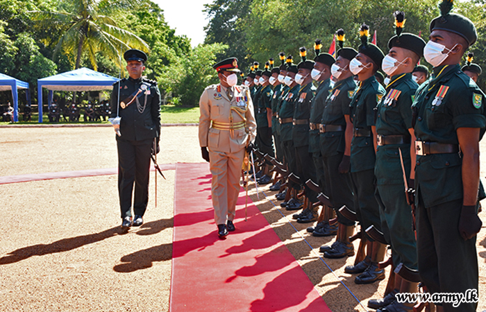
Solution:
<path fill-rule="evenodd" d="M 162 128 L 161 150 L 160 164 L 201 162 L 197 128 Z M 0 158 L 0 176 L 115 168 L 115 135 L 95 127 L 0 128 Z M 0 224 L 0 311 L 168 311 L 174 171 L 164 174 L 157 209 L 151 173 L 145 224 L 128 234 L 119 232 L 116 175 L 0 185 L 8 221 Z M 273 200 L 275 192 L 262 190 Z M 354 257 L 325 259 L 327 266 L 317 257 L 330 238 L 309 236 L 308 225 L 292 222 L 296 232 L 289 211 L 281 211 L 284 218 L 253 187 L 250 196 L 332 311 L 364 311 L 340 281 L 364 306 L 383 294 L 386 280 L 358 286 L 344 273 Z M 485 226 L 478 235 L 478 311 L 486 309 Z"/>

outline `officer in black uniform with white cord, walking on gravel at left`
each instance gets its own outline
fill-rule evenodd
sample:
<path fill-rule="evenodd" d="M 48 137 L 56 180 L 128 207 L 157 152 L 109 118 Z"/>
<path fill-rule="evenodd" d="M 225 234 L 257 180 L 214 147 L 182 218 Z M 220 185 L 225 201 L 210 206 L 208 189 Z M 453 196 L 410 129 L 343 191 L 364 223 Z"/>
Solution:
<path fill-rule="evenodd" d="M 117 135 L 118 192 L 121 227 L 142 225 L 149 202 L 149 171 L 152 150 L 158 152 L 160 139 L 160 92 L 156 81 L 142 77 L 146 54 L 131 49 L 124 53 L 129 78 L 113 85 L 111 117 L 121 117 Z M 154 143 L 154 138 L 156 142 Z M 135 198 L 132 192 L 135 182 Z"/>

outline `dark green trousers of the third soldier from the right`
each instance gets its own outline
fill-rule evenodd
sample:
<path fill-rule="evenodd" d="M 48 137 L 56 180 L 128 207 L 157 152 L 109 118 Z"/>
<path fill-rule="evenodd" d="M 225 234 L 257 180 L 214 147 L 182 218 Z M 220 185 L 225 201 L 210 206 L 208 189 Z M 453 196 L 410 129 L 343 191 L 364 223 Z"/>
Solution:
<path fill-rule="evenodd" d="M 355 203 L 356 215 L 362 229 L 366 230 L 374 225 L 378 231 L 381 231 L 380 207 L 375 197 L 374 169 L 352 172 L 351 177 L 358 198 L 358 202 Z M 367 239 L 373 241 L 368 235 Z"/>

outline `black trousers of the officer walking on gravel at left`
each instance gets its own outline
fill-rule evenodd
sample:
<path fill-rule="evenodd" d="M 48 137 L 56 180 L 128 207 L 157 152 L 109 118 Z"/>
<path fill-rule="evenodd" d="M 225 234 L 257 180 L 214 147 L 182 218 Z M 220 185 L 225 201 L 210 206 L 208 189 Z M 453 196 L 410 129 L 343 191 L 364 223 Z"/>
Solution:
<path fill-rule="evenodd" d="M 133 214 L 143 216 L 149 202 L 150 153 L 153 139 L 128 141 L 117 138 L 118 192 L 121 218 L 132 216 L 132 192 L 135 182 Z"/>

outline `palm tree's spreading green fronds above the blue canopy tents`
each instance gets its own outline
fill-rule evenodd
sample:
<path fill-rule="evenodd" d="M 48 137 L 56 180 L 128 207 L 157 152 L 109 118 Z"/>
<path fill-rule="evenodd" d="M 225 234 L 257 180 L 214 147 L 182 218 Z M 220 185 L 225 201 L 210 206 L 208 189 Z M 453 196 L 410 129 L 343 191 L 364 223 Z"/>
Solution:
<path fill-rule="evenodd" d="M 66 31 L 60 37 L 54 56 L 60 51 L 76 57 L 76 67 L 81 64 L 81 56 L 88 58 L 97 70 L 96 53 L 102 52 L 122 70 L 121 54 L 131 48 L 149 51 L 149 46 L 140 37 L 117 26 L 108 15 L 120 10 L 133 8 L 136 0 L 63 0 L 59 12 L 31 11 L 38 26 L 59 26 Z"/>

